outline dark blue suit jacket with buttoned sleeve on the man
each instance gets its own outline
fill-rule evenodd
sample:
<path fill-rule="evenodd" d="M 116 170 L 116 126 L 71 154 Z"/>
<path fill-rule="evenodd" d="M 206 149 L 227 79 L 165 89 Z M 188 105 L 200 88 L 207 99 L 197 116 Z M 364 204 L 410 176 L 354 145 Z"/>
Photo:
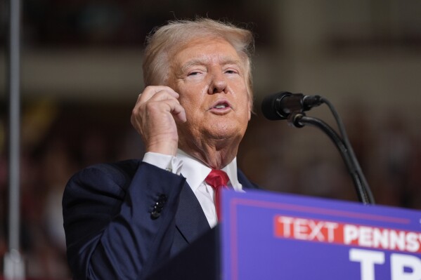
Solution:
<path fill-rule="evenodd" d="M 186 178 L 139 160 L 74 175 L 63 217 L 75 279 L 143 279 L 210 229 Z"/>

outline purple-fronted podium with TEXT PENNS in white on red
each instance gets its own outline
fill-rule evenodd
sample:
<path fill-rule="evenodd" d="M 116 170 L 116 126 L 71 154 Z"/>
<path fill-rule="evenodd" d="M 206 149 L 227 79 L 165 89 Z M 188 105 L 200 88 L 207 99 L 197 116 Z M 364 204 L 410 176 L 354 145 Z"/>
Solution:
<path fill-rule="evenodd" d="M 220 225 L 150 279 L 421 279 L 421 211 L 224 191 Z"/>

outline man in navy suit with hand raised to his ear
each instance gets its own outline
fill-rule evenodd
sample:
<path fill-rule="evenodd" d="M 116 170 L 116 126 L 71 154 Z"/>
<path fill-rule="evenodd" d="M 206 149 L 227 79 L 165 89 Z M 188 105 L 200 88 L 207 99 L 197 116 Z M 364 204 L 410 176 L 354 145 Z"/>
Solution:
<path fill-rule="evenodd" d="M 65 189 L 76 279 L 143 279 L 214 227 L 212 170 L 237 191 L 255 188 L 235 159 L 252 112 L 253 47 L 251 32 L 209 19 L 150 36 L 131 116 L 143 160 L 86 168 Z"/>

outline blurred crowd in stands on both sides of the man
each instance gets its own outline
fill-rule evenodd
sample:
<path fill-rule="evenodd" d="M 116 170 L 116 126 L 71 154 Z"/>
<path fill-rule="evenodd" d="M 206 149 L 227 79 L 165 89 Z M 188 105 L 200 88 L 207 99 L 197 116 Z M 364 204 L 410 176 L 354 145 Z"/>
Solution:
<path fill-rule="evenodd" d="M 47 100 L 24 106 L 21 246 L 29 279 L 70 279 L 61 208 L 70 176 L 91 164 L 142 156 L 140 136 L 129 124 L 130 106 Z M 8 166 L 6 118 L 1 117 L 0 258 L 6 252 Z M 369 124 L 358 114 L 344 119 L 377 203 L 420 209 L 417 135 L 396 118 L 383 124 Z M 323 140 L 318 144 L 319 131 L 293 129 L 266 121 L 259 113 L 253 116 L 238 154 L 243 171 L 269 191 L 357 201 L 335 147 Z M 299 142 L 309 148 L 300 148 Z"/>

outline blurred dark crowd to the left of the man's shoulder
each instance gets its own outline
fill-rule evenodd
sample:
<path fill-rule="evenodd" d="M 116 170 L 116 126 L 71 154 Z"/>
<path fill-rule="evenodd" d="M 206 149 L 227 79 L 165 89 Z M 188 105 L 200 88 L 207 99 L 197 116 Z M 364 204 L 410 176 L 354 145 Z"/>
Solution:
<path fill-rule="evenodd" d="M 141 154 L 140 136 L 133 137 L 137 147 L 127 142 L 132 138 L 132 132 L 127 129 L 130 112 L 124 106 L 70 104 L 59 107 L 49 100 L 23 105 L 20 240 L 29 279 L 70 278 L 61 207 L 63 189 L 70 176 L 83 167 L 127 158 L 126 147 L 130 147 L 132 157 Z M 4 116 L 0 123 L 3 140 L 0 149 L 0 258 L 3 259 L 8 233 L 8 133 Z"/>

